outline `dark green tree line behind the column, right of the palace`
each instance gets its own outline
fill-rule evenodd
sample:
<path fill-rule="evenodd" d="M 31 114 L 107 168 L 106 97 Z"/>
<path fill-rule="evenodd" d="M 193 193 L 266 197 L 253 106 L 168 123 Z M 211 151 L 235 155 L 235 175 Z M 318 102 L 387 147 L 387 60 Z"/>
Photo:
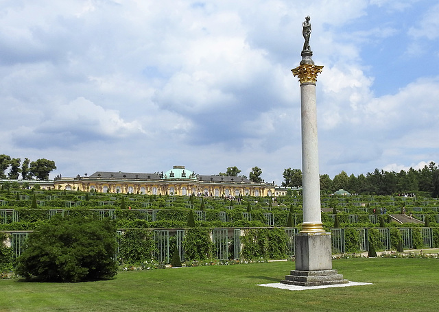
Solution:
<path fill-rule="evenodd" d="M 283 187 L 302 187 L 302 171 L 300 169 L 284 169 Z M 329 175 L 320 175 L 320 190 L 322 193 L 333 193 L 344 189 L 350 193 L 394 195 L 426 192 L 432 197 L 439 197 L 439 168 L 434 162 L 425 165 L 422 169 L 410 168 L 407 171 L 383 171 L 375 169 L 373 172 L 355 176 L 345 171 L 338 173 L 331 180 Z"/>

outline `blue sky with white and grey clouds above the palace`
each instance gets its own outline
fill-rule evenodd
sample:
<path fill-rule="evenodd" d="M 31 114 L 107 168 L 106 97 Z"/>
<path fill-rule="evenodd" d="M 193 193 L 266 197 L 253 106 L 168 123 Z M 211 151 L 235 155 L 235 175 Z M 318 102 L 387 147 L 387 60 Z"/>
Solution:
<path fill-rule="evenodd" d="M 95 171 L 301 167 L 311 16 L 320 173 L 439 163 L 431 0 L 2 0 L 0 154 Z"/>

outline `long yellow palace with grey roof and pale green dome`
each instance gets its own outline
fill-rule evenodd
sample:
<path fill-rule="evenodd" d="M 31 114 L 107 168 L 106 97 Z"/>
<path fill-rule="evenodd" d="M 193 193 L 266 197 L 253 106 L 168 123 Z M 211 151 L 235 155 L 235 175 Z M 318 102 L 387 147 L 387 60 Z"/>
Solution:
<path fill-rule="evenodd" d="M 129 173 L 97 171 L 91 176 L 54 179 L 55 189 L 97 191 L 99 193 L 135 193 L 145 195 L 272 196 L 274 183 L 252 182 L 240 176 L 202 176 L 174 166 L 165 173 Z"/>

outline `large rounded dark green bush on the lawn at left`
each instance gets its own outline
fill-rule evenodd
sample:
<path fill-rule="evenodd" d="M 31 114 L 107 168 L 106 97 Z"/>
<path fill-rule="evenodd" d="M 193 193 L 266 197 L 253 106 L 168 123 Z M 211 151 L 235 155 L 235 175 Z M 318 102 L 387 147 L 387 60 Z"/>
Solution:
<path fill-rule="evenodd" d="M 115 227 L 108 220 L 52 217 L 29 234 L 16 273 L 45 282 L 80 282 L 117 274 Z"/>

